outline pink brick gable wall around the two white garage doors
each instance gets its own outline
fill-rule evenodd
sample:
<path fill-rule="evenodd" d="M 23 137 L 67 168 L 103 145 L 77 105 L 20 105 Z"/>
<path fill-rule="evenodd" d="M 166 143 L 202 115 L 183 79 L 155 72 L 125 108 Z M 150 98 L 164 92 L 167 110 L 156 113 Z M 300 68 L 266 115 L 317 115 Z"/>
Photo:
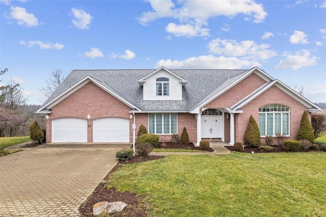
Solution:
<path fill-rule="evenodd" d="M 58 118 L 82 118 L 88 121 L 88 142 L 93 142 L 93 120 L 98 118 L 125 118 L 129 119 L 131 108 L 108 94 L 94 83 L 89 82 L 70 96 L 51 108 L 50 119 L 46 123 L 46 142 L 50 143 L 52 138 L 51 120 Z M 130 142 L 132 142 L 132 129 L 130 124 Z"/>

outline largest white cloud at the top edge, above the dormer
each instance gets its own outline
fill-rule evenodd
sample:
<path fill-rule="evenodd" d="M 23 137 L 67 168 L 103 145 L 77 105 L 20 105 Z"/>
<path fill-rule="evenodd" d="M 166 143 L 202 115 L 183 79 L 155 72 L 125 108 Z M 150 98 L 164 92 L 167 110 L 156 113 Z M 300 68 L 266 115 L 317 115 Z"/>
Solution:
<path fill-rule="evenodd" d="M 171 0 L 148 0 L 152 11 L 143 12 L 139 18 L 141 24 L 164 17 L 179 19 L 180 24 L 169 23 L 166 30 L 176 36 L 207 36 L 209 29 L 202 28 L 208 24 L 210 17 L 227 16 L 234 17 L 238 14 L 246 15 L 245 20 L 254 18 L 254 22 L 262 22 L 267 16 L 262 4 L 253 0 L 244 1 L 179 1 L 180 7 L 176 7 Z M 225 30 L 224 30 L 225 31 Z"/>

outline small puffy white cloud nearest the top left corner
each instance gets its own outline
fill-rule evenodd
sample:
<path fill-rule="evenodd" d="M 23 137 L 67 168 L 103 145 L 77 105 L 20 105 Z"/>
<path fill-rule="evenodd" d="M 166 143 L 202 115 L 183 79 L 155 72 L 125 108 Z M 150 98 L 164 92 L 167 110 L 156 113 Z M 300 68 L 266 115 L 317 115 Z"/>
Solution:
<path fill-rule="evenodd" d="M 10 10 L 10 15 L 5 15 L 6 19 L 16 20 L 19 25 L 28 28 L 39 25 L 39 22 L 37 21 L 38 19 L 34 16 L 34 14 L 26 12 L 26 9 L 20 7 L 10 7 Z"/>

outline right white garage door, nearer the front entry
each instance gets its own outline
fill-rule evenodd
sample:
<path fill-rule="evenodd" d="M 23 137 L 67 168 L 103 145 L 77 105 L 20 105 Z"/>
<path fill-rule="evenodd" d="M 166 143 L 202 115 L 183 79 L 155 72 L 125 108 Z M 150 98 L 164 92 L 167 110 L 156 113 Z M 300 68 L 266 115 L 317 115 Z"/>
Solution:
<path fill-rule="evenodd" d="M 129 120 L 101 118 L 93 121 L 93 142 L 129 142 Z"/>

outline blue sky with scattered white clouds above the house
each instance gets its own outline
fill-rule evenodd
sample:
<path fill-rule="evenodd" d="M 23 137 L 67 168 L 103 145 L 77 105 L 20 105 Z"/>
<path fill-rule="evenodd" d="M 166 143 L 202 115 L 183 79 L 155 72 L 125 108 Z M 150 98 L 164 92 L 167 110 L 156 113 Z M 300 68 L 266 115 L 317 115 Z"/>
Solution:
<path fill-rule="evenodd" d="M 326 102 L 326 1 L 0 0 L 2 76 L 28 104 L 53 69 L 250 69 Z M 277 97 L 277 96 L 276 96 Z"/>

